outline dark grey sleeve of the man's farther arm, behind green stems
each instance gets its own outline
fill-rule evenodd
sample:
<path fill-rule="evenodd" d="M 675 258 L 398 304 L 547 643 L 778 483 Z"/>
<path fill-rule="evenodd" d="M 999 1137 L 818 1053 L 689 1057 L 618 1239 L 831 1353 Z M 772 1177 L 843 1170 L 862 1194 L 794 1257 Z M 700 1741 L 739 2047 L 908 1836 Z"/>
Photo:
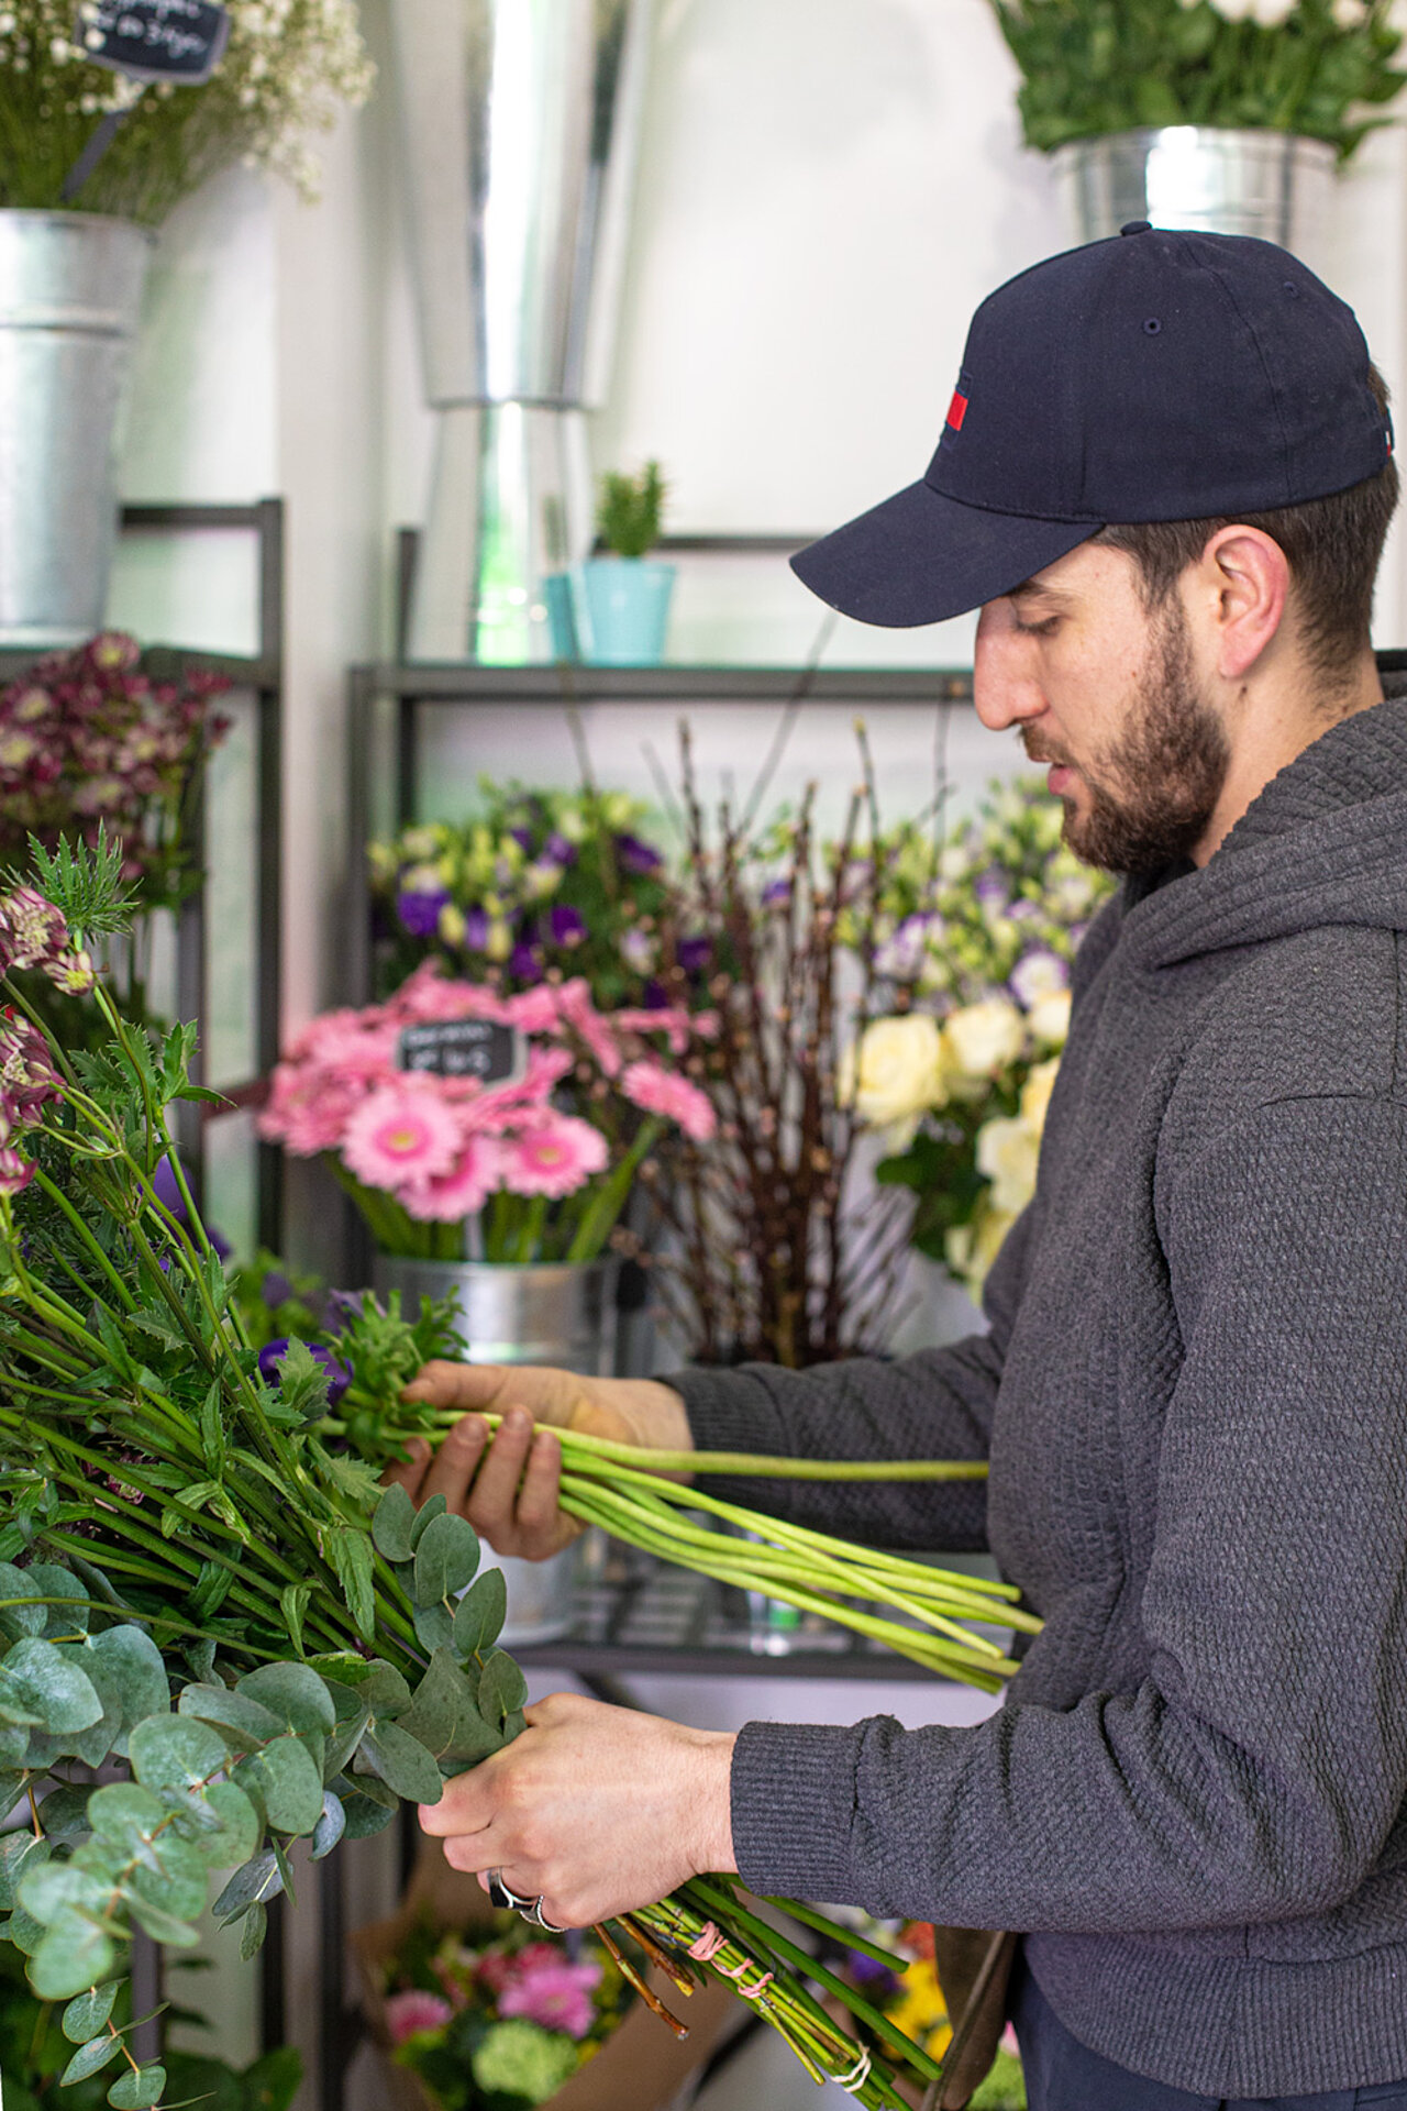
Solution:
<path fill-rule="evenodd" d="M 856 1355 L 818 1370 L 743 1364 L 738 1370 L 675 1372 L 664 1383 L 683 1395 L 696 1450 L 780 1459 L 985 1459 L 1027 1235 L 1029 1212 L 1008 1233 L 987 1277 L 987 1334 L 894 1362 Z M 987 1543 L 981 1482 L 848 1486 L 700 1476 L 698 1484 L 749 1509 L 871 1545 L 958 1552 Z"/>

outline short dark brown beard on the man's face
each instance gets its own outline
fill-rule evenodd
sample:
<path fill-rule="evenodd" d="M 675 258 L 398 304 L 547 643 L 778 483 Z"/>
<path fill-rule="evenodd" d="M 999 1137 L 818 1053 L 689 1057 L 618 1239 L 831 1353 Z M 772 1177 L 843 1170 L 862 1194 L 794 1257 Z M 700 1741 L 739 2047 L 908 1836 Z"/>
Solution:
<path fill-rule="evenodd" d="M 1150 638 L 1141 692 L 1107 754 L 1086 771 L 1021 728 L 1032 762 L 1067 762 L 1088 787 L 1091 809 L 1065 798 L 1063 838 L 1086 866 L 1160 872 L 1207 832 L 1232 749 L 1221 720 L 1196 692 L 1188 623 L 1177 604 Z"/>

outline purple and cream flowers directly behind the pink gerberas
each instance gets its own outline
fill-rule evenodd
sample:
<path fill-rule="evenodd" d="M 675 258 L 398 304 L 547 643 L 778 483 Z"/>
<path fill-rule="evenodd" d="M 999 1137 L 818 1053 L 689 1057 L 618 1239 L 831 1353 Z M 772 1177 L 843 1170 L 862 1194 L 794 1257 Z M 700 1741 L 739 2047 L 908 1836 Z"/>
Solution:
<path fill-rule="evenodd" d="M 664 857 L 624 792 L 529 792 L 481 779 L 470 821 L 420 821 L 373 842 L 378 988 L 424 961 L 451 975 L 532 990 L 580 975 L 593 1003 L 660 999 Z M 690 961 L 688 944 L 679 948 Z M 694 973 L 705 965 L 694 958 Z"/>

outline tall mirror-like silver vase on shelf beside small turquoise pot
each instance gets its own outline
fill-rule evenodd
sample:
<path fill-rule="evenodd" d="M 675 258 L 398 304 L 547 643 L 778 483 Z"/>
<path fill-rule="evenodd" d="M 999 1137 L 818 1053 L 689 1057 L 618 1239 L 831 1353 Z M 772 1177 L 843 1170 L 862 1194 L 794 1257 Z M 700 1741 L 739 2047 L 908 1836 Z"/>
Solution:
<path fill-rule="evenodd" d="M 650 0 L 392 0 L 426 401 L 413 659 L 553 657 L 586 557 Z"/>

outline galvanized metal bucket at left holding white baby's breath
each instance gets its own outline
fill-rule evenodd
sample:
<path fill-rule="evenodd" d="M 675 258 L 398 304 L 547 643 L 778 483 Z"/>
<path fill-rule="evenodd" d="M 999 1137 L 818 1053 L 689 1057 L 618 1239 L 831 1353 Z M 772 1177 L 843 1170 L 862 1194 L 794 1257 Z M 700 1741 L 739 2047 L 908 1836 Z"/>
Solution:
<path fill-rule="evenodd" d="M 99 213 L 0 211 L 0 646 L 101 629 L 152 243 Z"/>

